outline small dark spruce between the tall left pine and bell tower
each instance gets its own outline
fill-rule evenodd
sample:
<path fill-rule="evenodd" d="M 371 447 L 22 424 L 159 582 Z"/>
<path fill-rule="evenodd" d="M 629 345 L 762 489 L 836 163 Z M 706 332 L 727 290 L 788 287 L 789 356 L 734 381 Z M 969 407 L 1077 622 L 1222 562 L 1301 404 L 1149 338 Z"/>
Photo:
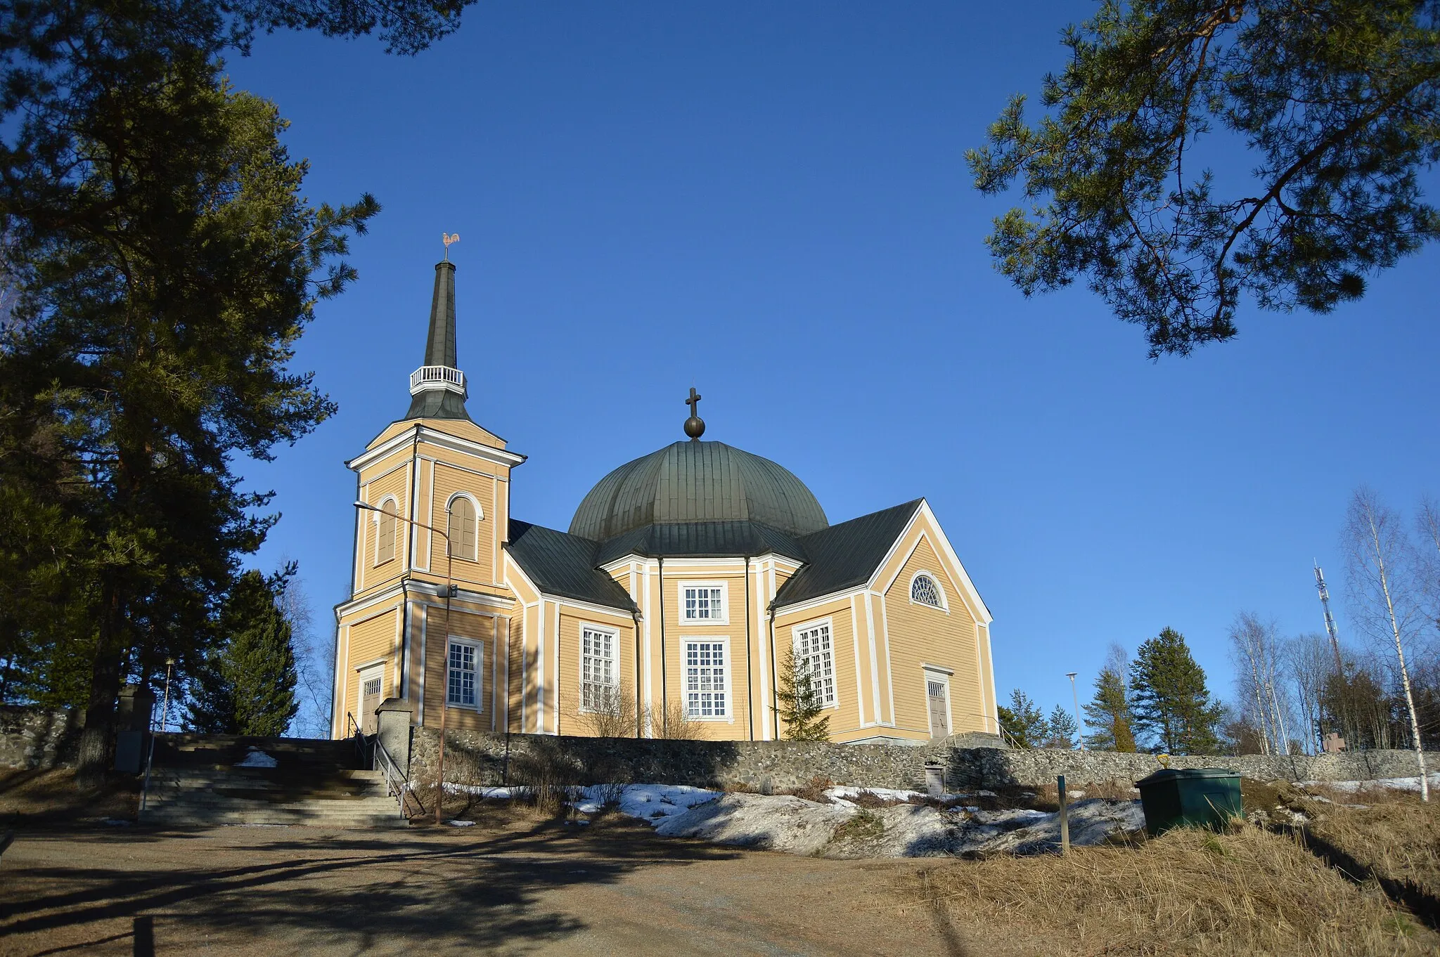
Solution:
<path fill-rule="evenodd" d="M 295 649 L 276 602 L 285 576 L 242 574 L 225 602 L 225 643 L 200 671 L 190 724 L 197 731 L 279 737 L 300 709 Z"/>

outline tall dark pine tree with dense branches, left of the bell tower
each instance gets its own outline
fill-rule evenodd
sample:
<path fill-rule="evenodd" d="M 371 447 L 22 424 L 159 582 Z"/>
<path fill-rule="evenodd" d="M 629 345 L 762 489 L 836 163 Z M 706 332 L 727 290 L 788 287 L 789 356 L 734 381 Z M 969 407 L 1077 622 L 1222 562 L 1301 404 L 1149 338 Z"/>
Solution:
<path fill-rule="evenodd" d="M 220 55 L 278 27 L 415 53 L 465 3 L 0 4 L 0 695 L 86 708 L 79 781 L 122 681 L 202 666 L 271 521 L 232 463 L 333 410 L 288 363 L 379 209 L 311 206 Z"/>

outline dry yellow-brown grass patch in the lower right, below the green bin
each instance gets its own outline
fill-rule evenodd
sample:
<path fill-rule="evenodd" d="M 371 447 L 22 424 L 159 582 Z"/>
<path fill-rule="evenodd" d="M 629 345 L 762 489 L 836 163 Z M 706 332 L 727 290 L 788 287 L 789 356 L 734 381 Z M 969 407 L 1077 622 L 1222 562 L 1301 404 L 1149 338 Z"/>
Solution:
<path fill-rule="evenodd" d="M 1174 830 L 1068 858 L 926 868 L 901 888 L 985 954 L 1437 953 L 1440 937 L 1297 839 Z M 998 928 L 1002 928 L 999 931 Z"/>

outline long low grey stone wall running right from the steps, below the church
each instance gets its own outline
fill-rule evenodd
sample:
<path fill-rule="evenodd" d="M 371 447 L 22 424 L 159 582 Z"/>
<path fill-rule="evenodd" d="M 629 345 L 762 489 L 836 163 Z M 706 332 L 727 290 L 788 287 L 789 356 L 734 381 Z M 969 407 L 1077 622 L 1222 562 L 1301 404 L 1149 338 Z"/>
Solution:
<path fill-rule="evenodd" d="M 1166 767 L 1153 754 L 1012 751 L 991 735 L 943 745 L 822 744 L 808 741 L 660 741 L 446 731 L 445 780 L 497 786 L 543 776 L 554 783 L 652 781 L 696 787 L 786 792 L 812 779 L 858 787 L 924 787 L 926 763 L 942 763 L 950 790 L 1037 787 L 1064 774 L 1068 784 L 1136 781 Z M 413 728 L 410 780 L 433 780 L 439 734 Z M 958 747 L 959 745 L 959 747 Z M 1426 756 L 1440 770 L 1440 754 Z M 1358 751 L 1319 757 L 1171 757 L 1169 767 L 1228 767 L 1261 780 L 1367 780 L 1413 777 L 1413 751 Z"/>

